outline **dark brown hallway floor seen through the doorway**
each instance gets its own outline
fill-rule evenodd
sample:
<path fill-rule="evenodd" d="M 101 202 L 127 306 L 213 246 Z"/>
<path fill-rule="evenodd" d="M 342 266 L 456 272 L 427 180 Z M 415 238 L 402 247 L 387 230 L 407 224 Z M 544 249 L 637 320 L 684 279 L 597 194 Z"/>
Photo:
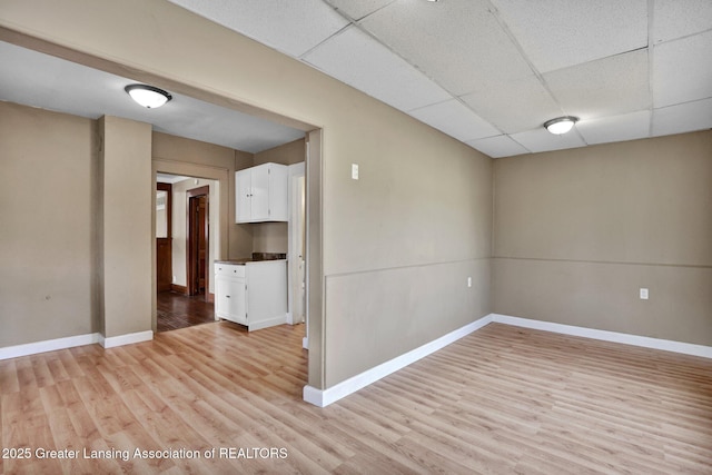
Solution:
<path fill-rule="evenodd" d="M 158 331 L 175 330 L 215 321 L 215 305 L 201 295 L 186 296 L 172 291 L 157 295 Z"/>

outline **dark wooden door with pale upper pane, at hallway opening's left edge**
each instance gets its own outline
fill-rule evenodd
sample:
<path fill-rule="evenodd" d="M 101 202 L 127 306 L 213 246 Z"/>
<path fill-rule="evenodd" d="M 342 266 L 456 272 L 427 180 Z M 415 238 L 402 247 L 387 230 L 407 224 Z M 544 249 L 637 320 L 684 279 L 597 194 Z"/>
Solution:
<path fill-rule="evenodd" d="M 170 291 L 172 284 L 171 186 L 156 184 L 156 291 Z"/>

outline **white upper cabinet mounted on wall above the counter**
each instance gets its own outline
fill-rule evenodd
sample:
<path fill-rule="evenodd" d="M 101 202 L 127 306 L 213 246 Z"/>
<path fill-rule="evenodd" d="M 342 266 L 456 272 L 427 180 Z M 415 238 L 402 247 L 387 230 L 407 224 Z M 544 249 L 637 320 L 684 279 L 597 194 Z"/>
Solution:
<path fill-rule="evenodd" d="M 235 172 L 236 222 L 287 221 L 286 165 L 264 164 Z"/>

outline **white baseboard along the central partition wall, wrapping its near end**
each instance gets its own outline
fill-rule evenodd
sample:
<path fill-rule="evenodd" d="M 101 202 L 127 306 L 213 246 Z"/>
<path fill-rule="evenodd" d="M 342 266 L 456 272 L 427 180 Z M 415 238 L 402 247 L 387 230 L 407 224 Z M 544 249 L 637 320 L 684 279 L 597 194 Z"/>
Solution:
<path fill-rule="evenodd" d="M 326 407 L 329 404 L 335 403 L 338 399 L 346 397 L 349 394 L 355 393 L 358 389 L 366 387 L 369 384 L 375 383 L 378 379 L 388 376 L 389 374 L 395 373 L 398 369 L 402 369 L 409 364 L 415 363 L 418 359 L 437 352 L 441 348 L 444 348 L 451 343 L 454 343 L 459 338 L 469 335 L 475 330 L 478 330 L 491 321 L 492 316 L 487 315 L 485 317 L 482 317 L 476 321 L 467 324 L 462 328 L 451 331 L 447 335 L 434 339 L 431 343 L 426 343 L 425 345 L 419 346 L 404 355 L 397 356 L 386 363 L 382 363 L 378 366 L 367 369 L 364 373 L 350 377 L 345 382 L 338 383 L 337 385 L 334 385 L 327 389 L 317 389 L 313 386 L 305 386 L 303 393 L 304 400 L 318 407 Z"/>

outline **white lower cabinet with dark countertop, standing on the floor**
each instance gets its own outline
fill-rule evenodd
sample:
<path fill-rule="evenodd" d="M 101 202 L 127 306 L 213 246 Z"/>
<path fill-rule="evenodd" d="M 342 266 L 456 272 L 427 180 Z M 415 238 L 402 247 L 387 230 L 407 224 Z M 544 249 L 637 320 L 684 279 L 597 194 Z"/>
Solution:
<path fill-rule="evenodd" d="M 248 330 L 287 321 L 287 261 L 215 263 L 215 314 Z"/>

